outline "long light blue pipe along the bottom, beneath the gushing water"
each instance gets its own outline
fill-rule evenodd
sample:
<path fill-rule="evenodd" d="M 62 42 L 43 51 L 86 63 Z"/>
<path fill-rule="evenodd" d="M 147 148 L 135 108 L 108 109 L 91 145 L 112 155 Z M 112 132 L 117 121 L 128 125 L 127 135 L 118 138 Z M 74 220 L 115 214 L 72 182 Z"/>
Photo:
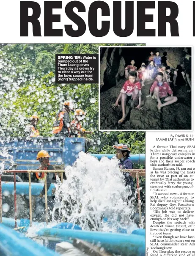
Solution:
<path fill-rule="evenodd" d="M 98 231 L 83 231 L 60 228 L 43 228 L 37 232 L 38 236 L 46 239 L 59 239 L 59 241 L 71 239 L 82 239 L 87 242 L 101 243 L 101 247 L 107 252 L 118 255 L 145 256 L 145 237 L 136 234 L 117 234 Z M 49 239 L 49 240 L 50 240 Z"/>

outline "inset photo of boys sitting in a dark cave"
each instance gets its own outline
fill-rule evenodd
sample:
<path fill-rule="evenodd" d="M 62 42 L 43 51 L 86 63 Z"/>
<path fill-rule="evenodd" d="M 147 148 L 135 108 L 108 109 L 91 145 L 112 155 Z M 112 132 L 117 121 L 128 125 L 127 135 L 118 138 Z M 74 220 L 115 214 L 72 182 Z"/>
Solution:
<path fill-rule="evenodd" d="M 99 47 L 99 130 L 192 130 L 192 47 Z"/>

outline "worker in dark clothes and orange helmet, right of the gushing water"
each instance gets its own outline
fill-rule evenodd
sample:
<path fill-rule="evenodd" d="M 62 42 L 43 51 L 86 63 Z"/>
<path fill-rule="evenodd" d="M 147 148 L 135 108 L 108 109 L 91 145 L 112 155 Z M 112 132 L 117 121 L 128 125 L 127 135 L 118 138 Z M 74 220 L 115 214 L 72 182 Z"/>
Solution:
<path fill-rule="evenodd" d="M 133 169 L 133 163 L 129 159 L 130 149 L 124 143 L 114 145 L 114 149 L 116 149 L 116 157 L 120 161 L 119 166 L 120 169 Z M 128 186 L 132 190 L 132 195 L 128 197 L 128 199 L 132 198 L 135 194 L 135 186 L 133 183 L 133 178 L 130 176 L 130 173 L 124 172 L 123 173 L 125 186 Z"/>

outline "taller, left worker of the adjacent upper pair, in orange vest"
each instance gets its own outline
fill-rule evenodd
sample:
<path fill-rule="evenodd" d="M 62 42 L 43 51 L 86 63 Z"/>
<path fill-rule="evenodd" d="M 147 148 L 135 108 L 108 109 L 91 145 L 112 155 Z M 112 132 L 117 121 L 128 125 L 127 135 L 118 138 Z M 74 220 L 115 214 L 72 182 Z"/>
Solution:
<path fill-rule="evenodd" d="M 74 130 L 77 130 L 77 132 L 80 132 L 80 134 L 83 134 L 82 130 L 80 128 L 77 128 L 73 124 L 71 124 L 69 112 L 71 111 L 71 102 L 65 101 L 63 102 L 63 108 L 58 111 L 55 123 L 53 127 L 52 133 L 55 136 L 62 136 L 62 137 L 70 137 L 70 128 L 72 127 Z"/>

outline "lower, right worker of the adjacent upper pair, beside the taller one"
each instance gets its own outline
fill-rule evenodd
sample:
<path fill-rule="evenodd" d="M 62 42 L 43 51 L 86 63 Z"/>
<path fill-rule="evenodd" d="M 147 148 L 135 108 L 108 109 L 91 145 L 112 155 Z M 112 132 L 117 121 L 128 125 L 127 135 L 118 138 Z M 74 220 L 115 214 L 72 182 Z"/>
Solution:
<path fill-rule="evenodd" d="M 80 129 L 82 132 L 84 132 L 84 134 L 92 134 L 91 131 L 86 131 L 85 129 L 82 129 L 82 125 L 80 124 L 80 121 L 85 118 L 85 114 L 86 113 L 82 109 L 76 109 L 74 112 L 75 118 L 73 121 L 71 121 L 71 125 Z M 81 137 L 80 131 L 75 130 L 72 133 L 74 137 Z"/>

